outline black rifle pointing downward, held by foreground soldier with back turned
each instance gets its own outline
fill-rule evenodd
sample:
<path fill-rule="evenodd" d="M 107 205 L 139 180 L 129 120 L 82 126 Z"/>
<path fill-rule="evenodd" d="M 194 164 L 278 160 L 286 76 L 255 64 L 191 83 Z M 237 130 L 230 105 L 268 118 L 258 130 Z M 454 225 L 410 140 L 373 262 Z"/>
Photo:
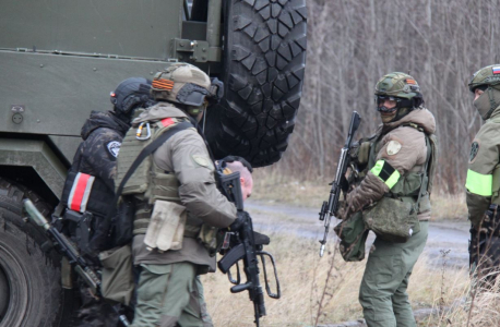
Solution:
<path fill-rule="evenodd" d="M 217 263 L 218 268 L 224 274 L 227 274 L 229 281 L 235 284 L 231 287 L 231 293 L 239 293 L 248 291 L 250 301 L 253 302 L 255 325 L 259 326 L 259 318 L 265 315 L 264 305 L 264 293 L 259 279 L 259 261 L 261 259 L 265 290 L 267 295 L 272 299 L 279 299 L 282 295 L 279 289 L 279 280 L 277 278 L 276 265 L 272 254 L 262 251 L 263 245 L 270 243 L 269 238 L 262 238 L 262 235 L 253 232 L 252 218 L 248 213 L 243 210 L 243 197 L 241 193 L 241 183 L 239 172 L 233 172 L 230 174 L 223 173 L 223 167 L 216 169 L 217 180 L 223 194 L 236 205 L 238 219 L 240 221 L 239 227 L 236 230 L 231 230 L 226 233 L 224 244 L 222 247 L 223 258 Z M 260 235 L 260 238 L 259 238 Z M 226 251 L 229 249 L 228 251 Z M 276 293 L 271 292 L 271 287 L 267 282 L 267 271 L 265 268 L 265 256 L 267 256 L 273 265 L 274 278 L 276 282 Z M 241 283 L 240 271 L 238 262 L 243 262 L 243 271 L 247 277 L 247 282 Z M 236 264 L 237 267 L 237 279 L 233 279 L 229 271 L 230 267 Z"/>

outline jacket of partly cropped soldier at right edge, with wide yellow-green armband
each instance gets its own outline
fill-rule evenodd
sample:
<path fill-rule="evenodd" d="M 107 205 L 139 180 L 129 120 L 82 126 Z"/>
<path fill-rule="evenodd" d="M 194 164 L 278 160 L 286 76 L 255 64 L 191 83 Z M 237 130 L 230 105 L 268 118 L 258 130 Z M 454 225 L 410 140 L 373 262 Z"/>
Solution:
<path fill-rule="evenodd" d="M 500 204 L 500 107 L 474 137 L 468 158 L 466 199 L 468 218 L 474 227 L 490 204 Z"/>

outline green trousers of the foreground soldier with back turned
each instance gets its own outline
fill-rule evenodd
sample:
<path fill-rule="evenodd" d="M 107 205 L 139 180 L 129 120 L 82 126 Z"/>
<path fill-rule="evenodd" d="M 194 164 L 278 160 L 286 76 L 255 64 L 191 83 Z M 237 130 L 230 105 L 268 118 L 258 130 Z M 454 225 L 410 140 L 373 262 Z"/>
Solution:
<path fill-rule="evenodd" d="M 133 327 L 213 327 L 197 265 L 143 264 L 141 268 Z"/>

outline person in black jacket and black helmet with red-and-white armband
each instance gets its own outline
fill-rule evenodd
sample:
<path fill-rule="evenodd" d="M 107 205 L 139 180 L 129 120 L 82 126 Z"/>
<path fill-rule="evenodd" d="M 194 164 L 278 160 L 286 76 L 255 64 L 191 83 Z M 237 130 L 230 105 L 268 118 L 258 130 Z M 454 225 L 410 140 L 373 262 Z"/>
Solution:
<path fill-rule="evenodd" d="M 64 183 L 59 210 L 64 232 L 80 247 L 81 253 L 99 269 L 98 252 L 106 244 L 105 218 L 115 195 L 114 179 L 118 152 L 130 128 L 135 109 L 147 107 L 151 81 L 132 77 L 111 92 L 112 110 L 92 111 L 82 128 L 80 144 Z M 82 306 L 78 313 L 79 327 L 115 327 L 117 314 L 95 298 L 82 280 L 78 280 Z"/>

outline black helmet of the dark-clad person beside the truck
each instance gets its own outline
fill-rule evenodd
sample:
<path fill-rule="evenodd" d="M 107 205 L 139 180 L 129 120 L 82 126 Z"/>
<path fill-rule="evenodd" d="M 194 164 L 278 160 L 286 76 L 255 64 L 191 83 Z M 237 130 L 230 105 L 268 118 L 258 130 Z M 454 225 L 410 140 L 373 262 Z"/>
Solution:
<path fill-rule="evenodd" d="M 110 100 L 119 116 L 131 117 L 133 109 L 148 107 L 151 101 L 151 81 L 143 77 L 127 78 L 111 92 Z"/>

